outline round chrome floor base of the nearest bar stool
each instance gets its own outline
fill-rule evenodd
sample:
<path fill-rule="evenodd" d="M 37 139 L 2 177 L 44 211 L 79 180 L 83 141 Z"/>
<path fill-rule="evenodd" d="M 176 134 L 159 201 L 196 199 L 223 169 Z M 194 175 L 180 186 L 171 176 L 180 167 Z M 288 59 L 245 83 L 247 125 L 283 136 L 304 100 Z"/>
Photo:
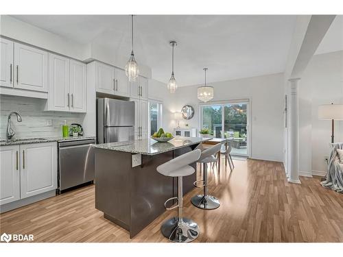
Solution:
<path fill-rule="evenodd" d="M 199 236 L 200 228 L 191 219 L 182 218 L 182 221 L 178 222 L 178 218 L 174 217 L 163 223 L 161 232 L 171 242 L 188 243 Z"/>

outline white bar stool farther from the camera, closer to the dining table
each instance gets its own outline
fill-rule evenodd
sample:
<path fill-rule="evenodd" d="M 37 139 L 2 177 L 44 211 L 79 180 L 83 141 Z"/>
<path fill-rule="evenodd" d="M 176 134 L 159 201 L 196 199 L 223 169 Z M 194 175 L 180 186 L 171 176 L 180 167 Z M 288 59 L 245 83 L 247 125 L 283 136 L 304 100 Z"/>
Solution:
<path fill-rule="evenodd" d="M 198 160 L 198 162 L 204 164 L 204 178 L 203 180 L 197 180 L 194 182 L 194 186 L 196 187 L 203 187 L 204 188 L 204 194 L 203 195 L 195 195 L 191 199 L 191 203 L 204 210 L 213 210 L 220 206 L 220 201 L 216 197 L 213 197 L 212 195 L 207 194 L 207 164 L 209 162 L 215 162 L 217 158 L 215 158 L 215 154 L 220 151 L 222 147 L 222 144 L 214 145 L 213 147 L 210 147 L 209 149 L 206 149 L 202 151 L 201 156 Z M 203 182 L 202 185 L 198 186 L 198 182 Z"/>

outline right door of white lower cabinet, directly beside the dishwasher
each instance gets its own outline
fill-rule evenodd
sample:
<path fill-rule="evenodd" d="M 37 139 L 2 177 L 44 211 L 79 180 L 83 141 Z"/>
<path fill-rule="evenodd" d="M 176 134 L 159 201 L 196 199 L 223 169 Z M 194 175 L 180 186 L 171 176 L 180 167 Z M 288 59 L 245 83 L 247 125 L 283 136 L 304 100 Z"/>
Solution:
<path fill-rule="evenodd" d="M 57 188 L 57 145 L 21 145 L 21 198 Z"/>

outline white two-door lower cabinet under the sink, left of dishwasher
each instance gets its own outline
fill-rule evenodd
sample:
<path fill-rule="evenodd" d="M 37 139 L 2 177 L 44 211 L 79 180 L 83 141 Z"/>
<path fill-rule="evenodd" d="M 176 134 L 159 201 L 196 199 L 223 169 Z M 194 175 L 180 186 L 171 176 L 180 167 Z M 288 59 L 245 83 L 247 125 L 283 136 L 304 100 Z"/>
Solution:
<path fill-rule="evenodd" d="M 0 162 L 0 205 L 57 188 L 56 142 L 2 146 Z"/>

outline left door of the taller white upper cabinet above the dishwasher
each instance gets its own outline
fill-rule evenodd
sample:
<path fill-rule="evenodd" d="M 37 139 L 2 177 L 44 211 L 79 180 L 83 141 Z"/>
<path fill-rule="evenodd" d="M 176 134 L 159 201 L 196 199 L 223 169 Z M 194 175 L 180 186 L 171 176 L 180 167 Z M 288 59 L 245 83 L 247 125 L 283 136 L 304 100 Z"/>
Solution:
<path fill-rule="evenodd" d="M 49 53 L 49 110 L 69 111 L 69 58 Z"/>

